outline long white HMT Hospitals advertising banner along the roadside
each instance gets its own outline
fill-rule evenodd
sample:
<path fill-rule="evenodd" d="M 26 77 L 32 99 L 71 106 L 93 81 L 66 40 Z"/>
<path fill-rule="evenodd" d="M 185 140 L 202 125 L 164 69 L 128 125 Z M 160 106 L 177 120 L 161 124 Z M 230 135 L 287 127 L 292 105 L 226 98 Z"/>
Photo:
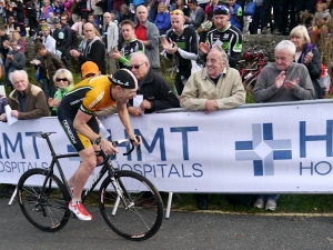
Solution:
<path fill-rule="evenodd" d="M 332 110 L 333 102 L 294 102 L 131 118 L 142 137 L 141 153 L 119 153 L 119 168 L 145 176 L 160 191 L 329 193 Z M 118 116 L 101 121 L 110 140 L 125 138 Z M 0 123 L 0 183 L 17 183 L 28 169 L 49 166 L 46 140 L 31 137 L 48 131 L 57 132 L 50 137 L 57 153 L 73 151 L 57 118 Z M 130 147 L 118 148 L 125 152 Z M 79 159 L 60 163 L 70 177 Z"/>

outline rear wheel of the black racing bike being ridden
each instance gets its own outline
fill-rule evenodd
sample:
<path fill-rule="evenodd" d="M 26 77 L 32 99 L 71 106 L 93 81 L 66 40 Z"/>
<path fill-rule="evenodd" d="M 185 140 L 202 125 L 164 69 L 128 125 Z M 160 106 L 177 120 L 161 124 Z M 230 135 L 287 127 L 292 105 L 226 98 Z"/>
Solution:
<path fill-rule="evenodd" d="M 49 178 L 46 184 L 48 188 L 41 193 L 46 176 L 44 169 L 24 172 L 17 187 L 17 199 L 23 216 L 31 224 L 46 232 L 56 232 L 62 229 L 70 218 L 70 194 L 54 174 Z"/>

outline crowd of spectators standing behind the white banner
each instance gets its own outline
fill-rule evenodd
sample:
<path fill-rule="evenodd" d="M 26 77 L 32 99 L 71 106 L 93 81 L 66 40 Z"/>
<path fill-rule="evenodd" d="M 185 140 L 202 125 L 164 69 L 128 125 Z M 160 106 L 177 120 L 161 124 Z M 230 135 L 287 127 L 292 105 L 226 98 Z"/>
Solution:
<path fill-rule="evenodd" d="M 250 33 L 290 34 L 290 41 L 276 46 L 275 63 L 265 67 L 260 76 L 254 101 L 323 98 L 317 83 L 321 61 L 310 36 L 331 20 L 331 0 L 254 2 Z M 236 0 L 151 0 L 135 8 L 127 0 L 0 1 L 0 14 L 6 21 L 0 27 L 0 66 L 4 83 L 12 90 L 8 99 L 11 116 L 57 116 L 62 97 L 77 83 L 72 61 L 82 69 L 83 78 L 90 71 L 93 76 L 112 74 L 129 68 L 139 81 L 138 96 L 142 98 L 139 104 L 131 101 L 128 106 L 134 117 L 168 108 L 210 113 L 243 104 L 245 90 L 233 68 L 243 51 L 242 32 L 248 31 L 243 23 L 245 6 L 246 1 Z M 314 18 L 306 26 L 297 26 L 299 13 L 305 10 Z M 36 42 L 36 58 L 30 63 L 41 89 L 29 83 L 23 73 L 26 36 Z M 82 37 L 80 44 L 78 36 Z M 175 59 L 173 91 L 159 73 L 161 54 L 167 60 Z M 201 67 L 196 62 L 202 62 Z M 294 71 L 286 73 L 287 67 Z M 282 86 L 286 74 L 294 80 Z M 110 114 L 115 109 L 100 112 Z M 6 121 L 6 114 L 0 120 Z M 255 207 L 263 208 L 266 199 L 265 208 L 275 210 L 279 194 L 259 196 Z M 206 194 L 196 199 L 200 209 L 208 208 Z"/>

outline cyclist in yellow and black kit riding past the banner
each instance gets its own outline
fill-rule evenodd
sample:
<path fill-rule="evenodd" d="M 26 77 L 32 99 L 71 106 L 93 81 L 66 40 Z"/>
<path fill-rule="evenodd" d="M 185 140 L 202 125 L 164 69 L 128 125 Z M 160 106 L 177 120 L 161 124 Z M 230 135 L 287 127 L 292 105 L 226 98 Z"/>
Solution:
<path fill-rule="evenodd" d="M 80 220 L 92 220 L 92 216 L 82 206 L 81 193 L 92 170 L 101 162 L 100 157 L 95 157 L 95 150 L 100 148 L 107 154 L 118 153 L 112 143 L 100 136 L 94 112 L 117 104 L 119 118 L 129 138 L 134 140 L 134 144 L 139 144 L 127 110 L 127 103 L 137 96 L 137 90 L 138 80 L 134 74 L 128 69 L 121 69 L 113 76 L 84 79 L 63 97 L 59 106 L 58 119 L 82 159 L 78 170 L 69 179 L 73 194 L 69 209 Z"/>

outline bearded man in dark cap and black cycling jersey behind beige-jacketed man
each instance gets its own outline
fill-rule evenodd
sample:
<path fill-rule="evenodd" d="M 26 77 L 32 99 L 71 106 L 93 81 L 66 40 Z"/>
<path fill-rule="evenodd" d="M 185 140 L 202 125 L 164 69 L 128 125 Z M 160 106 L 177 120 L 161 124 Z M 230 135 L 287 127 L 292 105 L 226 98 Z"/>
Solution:
<path fill-rule="evenodd" d="M 234 68 L 242 52 L 242 32 L 229 21 L 230 11 L 225 6 L 216 6 L 213 10 L 213 23 L 215 29 L 208 32 L 205 43 L 200 42 L 199 49 L 208 54 L 210 48 L 218 46 L 229 56 L 230 67 Z"/>

